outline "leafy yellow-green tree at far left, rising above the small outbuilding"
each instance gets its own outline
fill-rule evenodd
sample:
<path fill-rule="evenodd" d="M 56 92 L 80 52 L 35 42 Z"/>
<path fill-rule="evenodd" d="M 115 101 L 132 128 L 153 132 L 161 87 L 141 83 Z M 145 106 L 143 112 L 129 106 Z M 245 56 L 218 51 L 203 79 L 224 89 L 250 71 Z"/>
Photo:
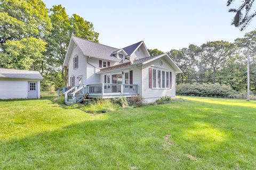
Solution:
<path fill-rule="evenodd" d="M 40 70 L 51 21 L 42 1 L 0 0 L 0 66 Z"/>

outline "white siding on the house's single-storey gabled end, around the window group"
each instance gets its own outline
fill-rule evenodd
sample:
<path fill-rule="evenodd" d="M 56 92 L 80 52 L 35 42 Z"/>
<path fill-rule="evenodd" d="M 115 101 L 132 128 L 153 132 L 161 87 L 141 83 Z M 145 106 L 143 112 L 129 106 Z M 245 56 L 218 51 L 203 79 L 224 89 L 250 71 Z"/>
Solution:
<path fill-rule="evenodd" d="M 159 64 L 159 61 L 163 61 L 163 65 Z M 172 88 L 171 89 L 150 89 L 149 88 L 149 67 L 157 67 L 166 71 L 172 72 Z M 145 65 L 142 65 L 142 97 L 148 102 L 154 101 L 159 97 L 171 96 L 175 97 L 175 71 L 172 66 L 164 59 L 159 58 L 158 60 L 152 61 Z"/>

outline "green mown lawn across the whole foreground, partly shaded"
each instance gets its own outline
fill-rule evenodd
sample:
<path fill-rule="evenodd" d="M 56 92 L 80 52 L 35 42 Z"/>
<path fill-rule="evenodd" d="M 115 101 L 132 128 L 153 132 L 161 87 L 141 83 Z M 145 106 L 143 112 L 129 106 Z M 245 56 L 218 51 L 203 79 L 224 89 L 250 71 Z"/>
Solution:
<path fill-rule="evenodd" d="M 52 97 L 0 101 L 0 169 L 256 169 L 256 101 L 93 115 Z"/>

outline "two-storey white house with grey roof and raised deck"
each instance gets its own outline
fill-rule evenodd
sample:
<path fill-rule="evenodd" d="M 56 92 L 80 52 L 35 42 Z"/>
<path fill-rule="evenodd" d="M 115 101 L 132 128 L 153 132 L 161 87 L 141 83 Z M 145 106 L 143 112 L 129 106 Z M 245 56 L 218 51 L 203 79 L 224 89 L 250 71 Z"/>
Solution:
<path fill-rule="evenodd" d="M 71 37 L 63 66 L 68 67 L 66 101 L 140 95 L 147 102 L 175 97 L 175 75 L 182 71 L 167 53 L 150 56 L 143 41 L 122 49 Z"/>

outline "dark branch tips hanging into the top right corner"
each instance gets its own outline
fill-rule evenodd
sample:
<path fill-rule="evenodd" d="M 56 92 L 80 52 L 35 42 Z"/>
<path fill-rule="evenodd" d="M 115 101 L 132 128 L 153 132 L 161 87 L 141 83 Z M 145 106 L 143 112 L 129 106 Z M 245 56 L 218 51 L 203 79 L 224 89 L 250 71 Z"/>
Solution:
<path fill-rule="evenodd" d="M 234 12 L 236 15 L 232 21 L 232 25 L 239 27 L 243 31 L 247 25 L 250 23 L 252 18 L 256 15 L 256 11 L 252 10 L 252 6 L 255 0 L 244 0 L 238 8 L 230 8 L 228 12 Z M 234 3 L 235 0 L 228 0 L 227 6 Z M 252 11 L 252 13 L 250 13 Z"/>

